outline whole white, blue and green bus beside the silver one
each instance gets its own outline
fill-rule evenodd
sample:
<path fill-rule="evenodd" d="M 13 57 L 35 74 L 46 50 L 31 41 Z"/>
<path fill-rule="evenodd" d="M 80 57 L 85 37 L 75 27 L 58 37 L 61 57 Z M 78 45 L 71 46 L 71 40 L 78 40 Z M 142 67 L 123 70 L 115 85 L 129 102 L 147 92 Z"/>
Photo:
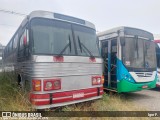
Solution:
<path fill-rule="evenodd" d="M 156 86 L 153 35 L 147 31 L 117 27 L 98 33 L 104 60 L 104 89 L 135 92 Z"/>

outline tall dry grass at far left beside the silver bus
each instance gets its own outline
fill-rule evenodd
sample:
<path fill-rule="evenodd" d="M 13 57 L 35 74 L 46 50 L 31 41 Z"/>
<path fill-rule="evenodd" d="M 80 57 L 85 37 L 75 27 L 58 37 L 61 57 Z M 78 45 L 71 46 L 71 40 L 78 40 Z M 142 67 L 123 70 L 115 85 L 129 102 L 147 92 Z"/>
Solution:
<path fill-rule="evenodd" d="M 0 111 L 30 111 L 27 94 L 18 88 L 9 74 L 0 74 Z"/>

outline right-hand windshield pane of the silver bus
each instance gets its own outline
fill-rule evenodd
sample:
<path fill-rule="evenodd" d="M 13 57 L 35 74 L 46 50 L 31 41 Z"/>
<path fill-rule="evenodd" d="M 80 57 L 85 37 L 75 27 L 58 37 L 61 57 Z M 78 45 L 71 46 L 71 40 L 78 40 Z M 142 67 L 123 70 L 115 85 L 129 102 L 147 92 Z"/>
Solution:
<path fill-rule="evenodd" d="M 78 55 L 99 56 L 96 31 L 91 28 L 73 25 Z M 86 49 L 87 48 L 87 49 Z"/>

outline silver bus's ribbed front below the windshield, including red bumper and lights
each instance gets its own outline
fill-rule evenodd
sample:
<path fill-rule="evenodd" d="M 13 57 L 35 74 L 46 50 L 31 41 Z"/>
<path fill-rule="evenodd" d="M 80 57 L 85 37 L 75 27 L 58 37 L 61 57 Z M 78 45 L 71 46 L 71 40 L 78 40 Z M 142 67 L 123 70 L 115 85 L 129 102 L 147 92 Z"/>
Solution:
<path fill-rule="evenodd" d="M 51 61 L 46 62 L 46 58 Z M 102 97 L 101 59 L 37 56 L 32 64 L 31 102 L 37 109 L 63 106 Z M 59 59 L 59 58 L 58 58 Z M 60 67 L 59 67 L 60 66 Z"/>

